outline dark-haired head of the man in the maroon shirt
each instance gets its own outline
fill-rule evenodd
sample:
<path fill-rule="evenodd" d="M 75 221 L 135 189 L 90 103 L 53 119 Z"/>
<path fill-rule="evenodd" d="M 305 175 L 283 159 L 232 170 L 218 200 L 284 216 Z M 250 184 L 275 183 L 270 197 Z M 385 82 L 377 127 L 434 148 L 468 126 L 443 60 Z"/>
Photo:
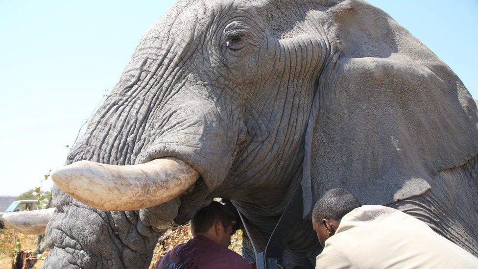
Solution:
<path fill-rule="evenodd" d="M 228 247 L 231 244 L 235 215 L 219 202 L 213 201 L 203 207 L 191 219 L 193 236 L 203 235 L 217 245 Z"/>

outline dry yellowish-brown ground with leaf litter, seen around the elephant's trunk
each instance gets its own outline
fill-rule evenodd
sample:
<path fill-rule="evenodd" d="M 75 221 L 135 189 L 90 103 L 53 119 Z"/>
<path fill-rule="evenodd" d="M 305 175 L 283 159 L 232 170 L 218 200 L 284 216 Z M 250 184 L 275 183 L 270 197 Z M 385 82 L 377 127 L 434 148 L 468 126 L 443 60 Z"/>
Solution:
<path fill-rule="evenodd" d="M 0 269 L 8 269 L 12 266 L 11 260 L 11 251 L 15 249 L 15 238 L 18 239 L 20 243 L 21 250 L 30 250 L 34 251 L 36 248 L 36 239 L 35 235 L 24 235 L 21 233 L 14 233 L 12 229 L 3 229 L 0 230 Z M 191 238 L 191 227 L 190 225 L 184 226 L 173 226 L 171 227 L 159 240 L 158 244 L 154 248 L 153 258 L 151 260 L 151 265 L 149 268 L 154 268 L 156 262 L 161 259 L 169 250 L 171 250 L 176 245 L 185 243 Z M 232 250 L 240 254 L 240 247 L 242 244 L 242 231 L 238 231 L 231 238 L 231 248 Z M 41 268 L 47 252 L 39 256 L 38 262 L 33 267 L 34 269 Z"/>

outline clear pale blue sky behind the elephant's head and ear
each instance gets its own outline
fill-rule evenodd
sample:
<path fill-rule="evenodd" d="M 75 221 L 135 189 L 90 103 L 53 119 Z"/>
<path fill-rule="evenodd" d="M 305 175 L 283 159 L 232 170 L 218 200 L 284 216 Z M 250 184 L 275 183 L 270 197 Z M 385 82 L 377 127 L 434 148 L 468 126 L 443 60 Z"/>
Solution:
<path fill-rule="evenodd" d="M 173 0 L 0 0 L 0 195 L 63 165 L 81 124 Z M 478 98 L 478 1 L 371 0 Z M 51 180 L 43 184 L 51 187 Z"/>

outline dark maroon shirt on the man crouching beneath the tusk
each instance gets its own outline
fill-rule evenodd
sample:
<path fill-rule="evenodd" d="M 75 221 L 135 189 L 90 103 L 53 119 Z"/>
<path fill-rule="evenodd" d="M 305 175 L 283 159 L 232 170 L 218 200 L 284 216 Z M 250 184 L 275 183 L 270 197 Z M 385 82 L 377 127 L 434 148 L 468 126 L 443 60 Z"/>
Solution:
<path fill-rule="evenodd" d="M 252 268 L 238 253 L 211 239 L 196 235 L 185 244 L 169 251 L 156 264 L 156 269 L 243 269 Z"/>

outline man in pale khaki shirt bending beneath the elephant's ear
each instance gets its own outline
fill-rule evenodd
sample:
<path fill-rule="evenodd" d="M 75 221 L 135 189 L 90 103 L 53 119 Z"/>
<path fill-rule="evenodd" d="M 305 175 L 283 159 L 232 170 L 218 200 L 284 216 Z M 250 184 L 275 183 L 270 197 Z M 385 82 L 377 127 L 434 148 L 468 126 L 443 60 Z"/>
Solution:
<path fill-rule="evenodd" d="M 478 259 L 421 220 L 382 205 L 360 206 L 341 189 L 315 204 L 312 225 L 324 247 L 315 268 L 475 268 Z"/>

